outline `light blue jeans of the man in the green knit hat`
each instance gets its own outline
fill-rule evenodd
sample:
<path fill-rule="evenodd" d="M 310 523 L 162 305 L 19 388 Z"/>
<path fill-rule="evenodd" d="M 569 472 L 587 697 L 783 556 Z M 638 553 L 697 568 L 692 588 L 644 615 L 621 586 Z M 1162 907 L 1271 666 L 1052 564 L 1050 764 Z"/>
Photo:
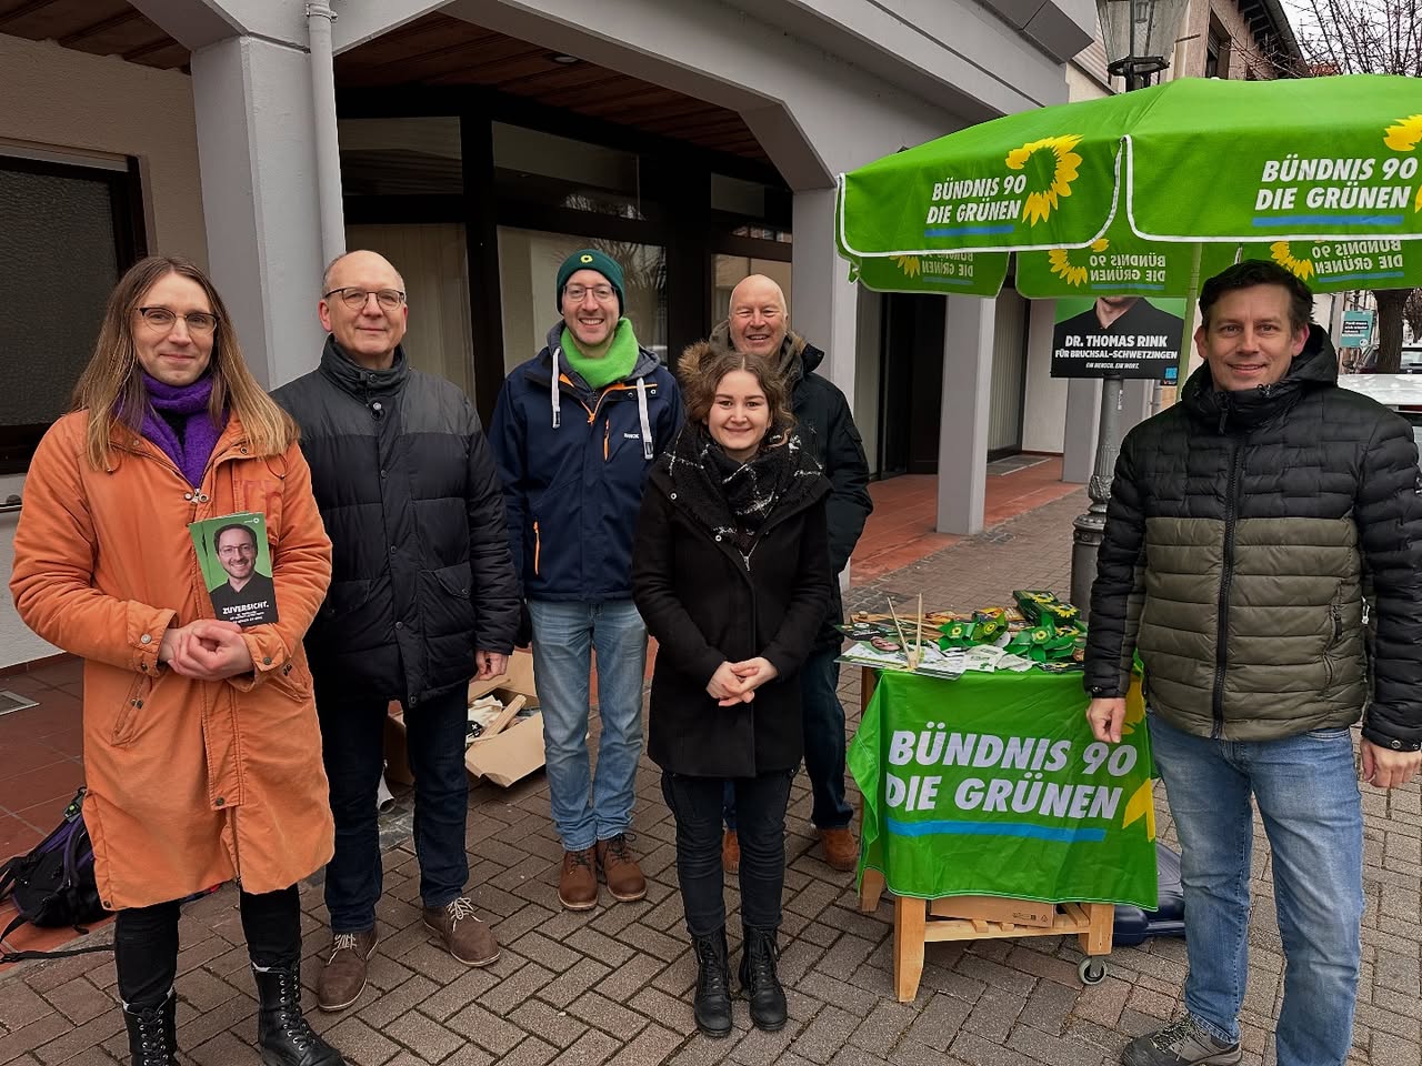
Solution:
<path fill-rule="evenodd" d="M 641 758 L 641 689 L 647 627 L 631 600 L 530 600 L 533 677 L 553 826 L 567 851 L 631 829 Z M 597 777 L 587 752 L 589 672 L 597 652 Z"/>

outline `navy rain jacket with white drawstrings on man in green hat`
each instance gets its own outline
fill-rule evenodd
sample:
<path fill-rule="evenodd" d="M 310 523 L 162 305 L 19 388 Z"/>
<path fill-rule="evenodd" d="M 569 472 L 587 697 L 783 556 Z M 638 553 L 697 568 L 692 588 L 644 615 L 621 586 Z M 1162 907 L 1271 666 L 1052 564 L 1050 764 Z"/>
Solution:
<path fill-rule="evenodd" d="M 643 488 L 681 426 L 681 391 L 646 348 L 631 374 L 594 389 L 563 358 L 562 334 L 559 320 L 509 374 L 489 428 L 513 566 L 529 600 L 629 600 Z"/>

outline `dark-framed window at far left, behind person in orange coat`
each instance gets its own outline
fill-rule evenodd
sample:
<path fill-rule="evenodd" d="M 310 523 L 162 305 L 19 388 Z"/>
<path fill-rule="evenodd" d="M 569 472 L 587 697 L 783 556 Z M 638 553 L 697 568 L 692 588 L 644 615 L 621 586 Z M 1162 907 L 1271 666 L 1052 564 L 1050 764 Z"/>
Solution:
<path fill-rule="evenodd" d="M 44 431 L 70 409 L 108 294 L 144 253 L 137 192 L 137 168 L 122 161 L 0 155 L 0 257 L 11 308 L 0 316 L 0 473 L 28 469 Z"/>

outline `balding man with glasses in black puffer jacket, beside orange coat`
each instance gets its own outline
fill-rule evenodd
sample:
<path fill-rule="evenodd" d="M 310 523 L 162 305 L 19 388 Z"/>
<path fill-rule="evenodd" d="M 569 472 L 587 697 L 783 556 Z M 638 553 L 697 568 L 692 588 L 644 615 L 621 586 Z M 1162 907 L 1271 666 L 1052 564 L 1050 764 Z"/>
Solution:
<path fill-rule="evenodd" d="M 465 895 L 471 677 L 502 674 L 519 623 L 503 493 L 468 397 L 411 370 L 404 281 L 374 252 L 326 271 L 321 365 L 273 395 L 301 426 L 333 574 L 306 651 L 316 679 L 336 856 L 323 1011 L 350 1006 L 375 949 L 385 709 L 405 708 L 425 927 L 461 962 L 499 957 Z"/>

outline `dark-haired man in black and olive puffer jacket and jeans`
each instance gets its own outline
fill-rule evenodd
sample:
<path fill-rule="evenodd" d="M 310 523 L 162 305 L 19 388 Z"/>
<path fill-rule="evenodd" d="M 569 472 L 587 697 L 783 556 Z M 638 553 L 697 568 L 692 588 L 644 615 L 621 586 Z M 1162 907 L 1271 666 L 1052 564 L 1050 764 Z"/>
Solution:
<path fill-rule="evenodd" d="M 1206 281 L 1182 402 L 1126 435 L 1091 597 L 1086 716 L 1121 739 L 1132 652 L 1180 836 L 1187 1013 L 1128 1066 L 1234 1063 L 1258 804 L 1284 944 L 1280 1066 L 1342 1066 L 1361 957 L 1362 777 L 1422 763 L 1422 482 L 1411 426 L 1338 388 L 1313 296 L 1257 260 Z M 1364 642 L 1372 581 L 1375 652 Z"/>

